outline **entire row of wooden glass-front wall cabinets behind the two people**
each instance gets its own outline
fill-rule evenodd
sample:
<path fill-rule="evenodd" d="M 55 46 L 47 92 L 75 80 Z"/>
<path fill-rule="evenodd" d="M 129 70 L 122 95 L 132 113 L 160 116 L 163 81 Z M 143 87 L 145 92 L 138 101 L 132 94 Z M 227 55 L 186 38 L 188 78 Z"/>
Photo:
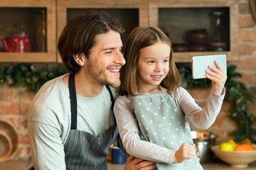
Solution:
<path fill-rule="evenodd" d="M 227 55 L 228 61 L 238 60 L 238 0 L 0 0 L 0 37 L 14 35 L 15 24 L 26 23 L 31 29 L 31 39 L 40 43 L 42 36 L 38 38 L 36 35 L 38 21 L 41 21 L 38 14 L 40 11 L 46 13 L 44 50 L 20 53 L 0 49 L 0 62 L 61 62 L 57 52 L 58 37 L 67 21 L 81 11 L 104 10 L 119 19 L 126 28 L 123 43 L 136 26 L 159 27 L 170 34 L 171 42 L 176 43 L 186 39 L 188 30 L 206 28 L 210 32 L 210 18 L 206 13 L 219 9 L 226 17 L 227 49 L 221 52 L 174 52 L 175 62 L 191 62 L 195 55 L 216 54 Z"/>

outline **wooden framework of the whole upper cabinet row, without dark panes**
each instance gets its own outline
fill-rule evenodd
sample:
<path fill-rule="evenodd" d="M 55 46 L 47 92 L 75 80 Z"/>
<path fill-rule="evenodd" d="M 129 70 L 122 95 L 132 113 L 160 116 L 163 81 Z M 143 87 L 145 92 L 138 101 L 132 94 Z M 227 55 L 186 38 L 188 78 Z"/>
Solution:
<path fill-rule="evenodd" d="M 136 22 L 139 26 L 159 27 L 159 9 L 164 8 L 228 8 L 229 14 L 229 49 L 225 52 L 174 52 L 176 62 L 191 62 L 195 55 L 227 55 L 228 61 L 238 60 L 238 1 L 237 0 L 0 0 L 0 8 L 46 8 L 47 15 L 47 52 L 0 52 L 0 62 L 61 62 L 57 52 L 57 40 L 68 19 L 73 13 L 87 9 L 119 10 L 124 12 L 129 9 L 137 10 Z M 124 10 L 125 9 L 125 10 Z M 129 13 L 129 12 L 128 12 Z M 136 13 L 136 12 L 135 12 Z M 4 13 L 0 12 L 0 16 Z M 133 16 L 136 16 L 135 14 Z M 161 14 L 163 16 L 164 14 Z M 168 15 L 168 13 L 166 14 Z M 18 17 L 18 16 L 17 16 Z M 113 16 L 118 18 L 119 16 Z M 127 16 L 125 16 L 127 17 Z M 129 15 L 128 15 L 129 17 Z M 15 18 L 15 17 L 14 17 Z M 27 19 L 27 18 L 24 18 Z M 198 18 L 196 18 L 197 20 Z M 131 20 L 120 19 L 122 22 L 131 23 Z M 33 21 L 29 21 L 33 24 Z M 121 22 L 121 21 L 120 21 Z M 135 22 L 135 23 L 136 23 Z M 163 21 L 161 21 L 163 22 Z M 164 21 L 166 23 L 172 21 Z M 134 23 L 134 26 L 136 25 Z M 1 24 L 1 21 L 0 21 Z M 2 23 L 5 25 L 6 23 Z M 186 26 L 186 22 L 183 23 Z M 134 27 L 131 26 L 131 27 Z M 128 31 L 127 33 L 129 32 Z M 171 31 L 177 31 L 174 29 Z M 0 35 L 1 27 L 0 27 Z"/>

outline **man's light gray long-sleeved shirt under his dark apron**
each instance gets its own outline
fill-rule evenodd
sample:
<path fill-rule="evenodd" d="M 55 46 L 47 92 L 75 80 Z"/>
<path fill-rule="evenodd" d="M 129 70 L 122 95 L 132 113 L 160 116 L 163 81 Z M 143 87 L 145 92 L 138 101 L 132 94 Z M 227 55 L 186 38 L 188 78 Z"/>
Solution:
<path fill-rule="evenodd" d="M 65 169 L 63 148 L 71 125 L 69 90 L 62 81 L 65 75 L 48 81 L 33 98 L 28 111 L 31 152 L 27 167 Z M 116 96 L 115 90 L 111 90 Z M 77 103 L 78 130 L 97 136 L 114 125 L 112 101 L 105 86 L 93 98 L 77 95 Z"/>

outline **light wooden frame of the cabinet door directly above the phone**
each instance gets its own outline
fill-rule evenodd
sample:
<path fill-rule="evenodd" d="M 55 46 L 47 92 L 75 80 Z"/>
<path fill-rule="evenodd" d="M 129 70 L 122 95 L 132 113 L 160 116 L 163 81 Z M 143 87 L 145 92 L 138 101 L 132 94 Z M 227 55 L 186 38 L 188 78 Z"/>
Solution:
<path fill-rule="evenodd" d="M 194 0 L 191 3 L 190 0 L 149 0 L 149 26 L 159 27 L 159 9 L 161 8 L 229 8 L 229 38 L 230 42 L 229 50 L 223 52 L 174 52 L 175 62 L 191 62 L 191 59 L 195 55 L 227 55 L 228 61 L 238 60 L 238 1 L 236 0 Z M 175 17 L 174 17 L 175 18 Z M 195 18 L 194 21 L 198 22 Z M 166 21 L 172 22 L 172 21 Z M 189 22 L 189 21 L 187 21 Z M 200 25 L 201 23 L 198 23 Z M 184 27 L 188 26 L 189 23 L 183 23 Z M 203 24 L 202 24 L 203 25 Z M 193 29 L 193 28 L 191 28 Z M 171 30 L 171 31 L 177 31 Z"/>

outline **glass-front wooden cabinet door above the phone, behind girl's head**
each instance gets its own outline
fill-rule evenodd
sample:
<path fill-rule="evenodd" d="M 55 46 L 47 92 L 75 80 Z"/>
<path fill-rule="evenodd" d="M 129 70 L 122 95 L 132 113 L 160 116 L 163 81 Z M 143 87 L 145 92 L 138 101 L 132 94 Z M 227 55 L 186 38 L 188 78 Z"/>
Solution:
<path fill-rule="evenodd" d="M 238 60 L 238 1 L 236 0 L 149 0 L 149 26 L 162 28 L 173 43 L 186 44 L 186 52 L 174 52 L 176 62 L 191 62 L 196 55 L 227 55 L 227 60 Z M 225 50 L 211 48 L 210 38 L 203 44 L 193 44 L 192 30 L 206 30 L 214 37 L 213 13 L 223 14 Z M 215 21 L 216 22 L 216 21 Z M 218 21 L 219 22 L 219 21 Z M 181 44 L 180 43 L 180 44 Z M 175 44 L 174 44 L 175 45 Z M 202 50 L 193 47 L 206 47 Z M 184 48 L 185 49 L 185 48 Z"/>

